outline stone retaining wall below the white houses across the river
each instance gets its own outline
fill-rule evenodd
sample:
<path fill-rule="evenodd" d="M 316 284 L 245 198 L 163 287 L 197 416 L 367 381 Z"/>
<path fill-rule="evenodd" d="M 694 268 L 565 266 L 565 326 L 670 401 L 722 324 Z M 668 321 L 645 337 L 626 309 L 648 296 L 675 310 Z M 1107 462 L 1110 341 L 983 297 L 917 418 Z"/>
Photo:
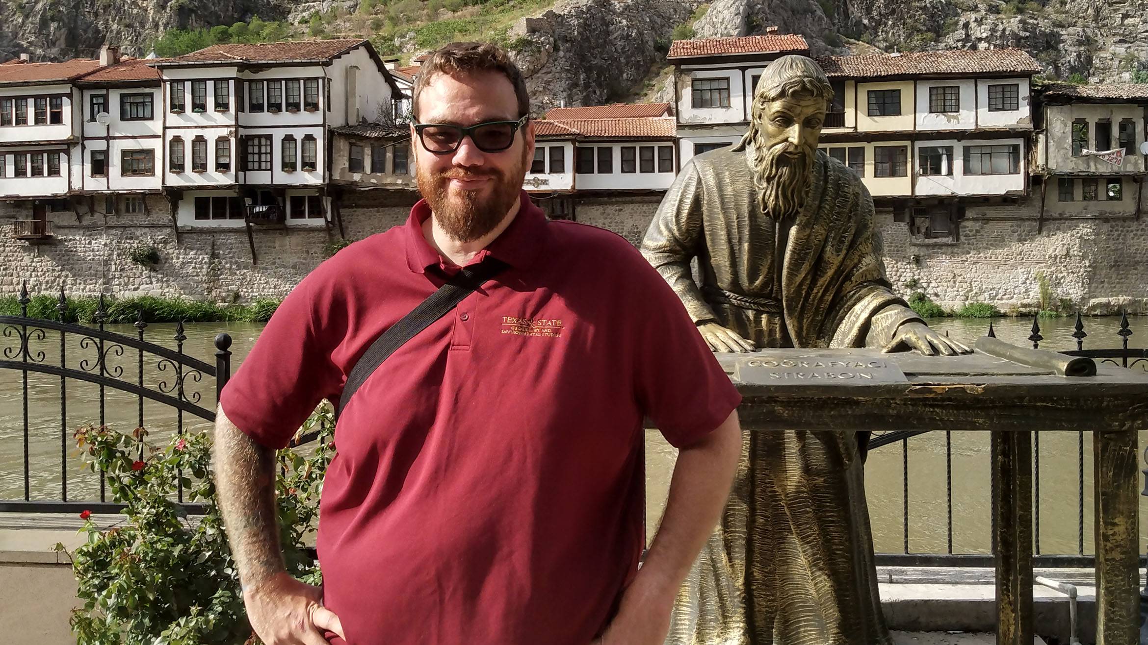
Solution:
<path fill-rule="evenodd" d="M 350 239 L 402 224 L 414 192 L 348 193 L 340 201 Z M 637 244 L 653 218 L 660 195 L 575 197 L 577 222 L 614 231 Z M 0 231 L 13 219 L 31 217 L 28 202 L 0 202 Z M 247 233 L 238 228 L 181 228 L 179 241 L 168 203 L 148 197 L 148 215 L 72 212 L 48 215 L 56 241 L 28 244 L 0 239 L 0 293 L 15 293 L 28 280 L 33 293 L 117 296 L 156 295 L 249 302 L 282 297 L 325 257 L 338 227 L 256 228 L 253 264 Z M 1040 303 L 1041 275 L 1052 304 L 1063 300 L 1093 313 L 1118 308 L 1148 311 L 1148 218 L 1068 217 L 1037 208 L 968 207 L 957 241 L 922 240 L 908 225 L 878 211 L 878 234 L 890 281 L 908 295 L 921 290 L 946 308 L 988 302 L 1001 310 L 1031 310 Z M 1039 231 L 1038 231 L 1039 228 Z M 138 243 L 153 244 L 154 267 L 131 262 Z"/>

